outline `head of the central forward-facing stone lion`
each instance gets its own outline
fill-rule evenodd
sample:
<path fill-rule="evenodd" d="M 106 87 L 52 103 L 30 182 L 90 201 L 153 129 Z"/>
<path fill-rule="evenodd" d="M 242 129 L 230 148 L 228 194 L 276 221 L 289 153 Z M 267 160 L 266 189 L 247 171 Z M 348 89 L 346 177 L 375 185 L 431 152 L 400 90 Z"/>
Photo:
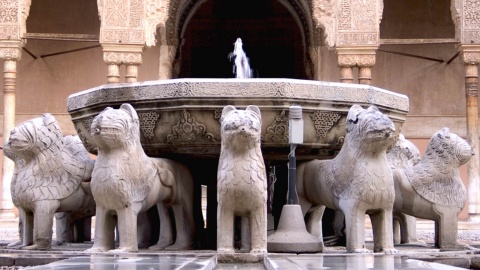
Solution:
<path fill-rule="evenodd" d="M 248 147 L 260 144 L 262 118 L 260 109 L 250 105 L 245 110 L 237 110 L 228 105 L 223 108 L 221 123 L 222 147 Z"/>

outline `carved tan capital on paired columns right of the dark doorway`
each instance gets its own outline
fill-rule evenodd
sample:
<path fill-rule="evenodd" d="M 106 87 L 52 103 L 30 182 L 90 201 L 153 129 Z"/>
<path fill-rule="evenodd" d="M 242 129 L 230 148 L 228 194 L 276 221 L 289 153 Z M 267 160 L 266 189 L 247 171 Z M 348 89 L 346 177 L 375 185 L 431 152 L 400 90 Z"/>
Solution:
<path fill-rule="evenodd" d="M 340 67 L 373 67 L 377 47 L 336 48 Z"/>

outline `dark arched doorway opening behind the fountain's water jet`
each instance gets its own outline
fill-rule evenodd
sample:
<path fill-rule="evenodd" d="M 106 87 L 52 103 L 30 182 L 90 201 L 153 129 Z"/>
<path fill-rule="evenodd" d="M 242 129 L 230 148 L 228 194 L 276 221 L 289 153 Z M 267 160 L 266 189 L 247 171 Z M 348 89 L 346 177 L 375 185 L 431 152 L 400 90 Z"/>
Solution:
<path fill-rule="evenodd" d="M 208 0 L 181 32 L 180 78 L 232 78 L 228 54 L 240 37 L 254 77 L 307 79 L 303 38 L 279 1 Z"/>

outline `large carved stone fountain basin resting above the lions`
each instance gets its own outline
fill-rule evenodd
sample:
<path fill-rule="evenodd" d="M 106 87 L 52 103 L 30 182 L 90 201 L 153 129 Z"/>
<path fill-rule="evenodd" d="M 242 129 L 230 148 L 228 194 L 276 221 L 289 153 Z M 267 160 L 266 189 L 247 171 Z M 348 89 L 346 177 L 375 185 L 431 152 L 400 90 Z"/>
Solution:
<path fill-rule="evenodd" d="M 130 103 L 140 119 L 147 155 L 218 157 L 223 107 L 262 112 L 262 152 L 267 160 L 287 159 L 288 111 L 301 106 L 304 143 L 297 158 L 331 158 L 341 148 L 345 119 L 353 104 L 375 105 L 395 124 L 408 113 L 408 97 L 381 88 L 296 79 L 172 79 L 108 84 L 69 96 L 68 111 L 85 147 L 96 154 L 90 136 L 93 118 L 110 106 Z"/>

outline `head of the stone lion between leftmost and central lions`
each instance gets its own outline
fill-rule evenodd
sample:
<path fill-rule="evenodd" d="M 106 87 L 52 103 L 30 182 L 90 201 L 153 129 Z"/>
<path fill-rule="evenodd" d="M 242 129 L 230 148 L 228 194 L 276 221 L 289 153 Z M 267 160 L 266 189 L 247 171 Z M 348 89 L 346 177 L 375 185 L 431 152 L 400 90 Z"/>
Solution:
<path fill-rule="evenodd" d="M 140 145 L 138 115 L 130 104 L 105 108 L 93 119 L 90 131 L 100 150 Z"/>

